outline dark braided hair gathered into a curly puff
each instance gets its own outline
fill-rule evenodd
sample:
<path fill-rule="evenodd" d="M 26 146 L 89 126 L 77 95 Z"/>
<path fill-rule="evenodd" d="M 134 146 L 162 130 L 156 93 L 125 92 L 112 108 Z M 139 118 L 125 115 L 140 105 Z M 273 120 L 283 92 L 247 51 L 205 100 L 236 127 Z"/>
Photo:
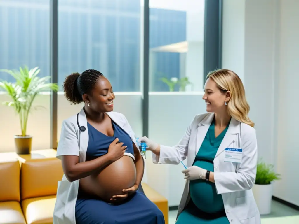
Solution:
<path fill-rule="evenodd" d="M 79 104 L 83 102 L 82 95 L 89 94 L 94 88 L 98 79 L 103 76 L 97 70 L 89 69 L 83 73 L 71 73 L 63 82 L 64 95 L 71 104 Z"/>

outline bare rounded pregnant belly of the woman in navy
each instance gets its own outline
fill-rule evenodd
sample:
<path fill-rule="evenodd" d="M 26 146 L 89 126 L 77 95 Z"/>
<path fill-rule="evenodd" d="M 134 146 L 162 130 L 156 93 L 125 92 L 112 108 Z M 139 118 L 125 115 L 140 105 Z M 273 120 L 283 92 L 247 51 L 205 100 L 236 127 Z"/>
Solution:
<path fill-rule="evenodd" d="M 123 189 L 132 187 L 135 182 L 135 163 L 131 157 L 123 156 L 100 173 L 81 179 L 80 187 L 89 194 L 110 202 L 112 196 L 124 194 Z"/>

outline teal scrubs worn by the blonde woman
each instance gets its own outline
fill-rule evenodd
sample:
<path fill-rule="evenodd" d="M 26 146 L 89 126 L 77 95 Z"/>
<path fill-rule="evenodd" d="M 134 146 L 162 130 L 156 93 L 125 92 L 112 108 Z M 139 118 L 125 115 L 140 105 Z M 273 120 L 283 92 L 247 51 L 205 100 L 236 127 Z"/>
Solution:
<path fill-rule="evenodd" d="M 214 172 L 213 160 L 227 129 L 228 125 L 219 136 L 215 137 L 213 119 L 193 165 Z M 190 201 L 179 215 L 176 224 L 229 224 L 222 196 L 216 193 L 215 183 L 203 179 L 191 180 L 189 192 Z"/>

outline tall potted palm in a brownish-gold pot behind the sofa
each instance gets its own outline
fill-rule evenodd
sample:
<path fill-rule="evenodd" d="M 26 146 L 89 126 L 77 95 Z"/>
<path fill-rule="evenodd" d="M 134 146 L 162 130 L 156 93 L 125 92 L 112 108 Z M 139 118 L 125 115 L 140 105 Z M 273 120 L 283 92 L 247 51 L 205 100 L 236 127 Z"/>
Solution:
<path fill-rule="evenodd" d="M 35 97 L 42 91 L 58 91 L 56 83 L 49 83 L 50 76 L 39 78 L 40 72 L 38 67 L 28 69 L 28 67 L 20 67 L 19 70 L 2 69 L 13 76 L 16 82 L 0 81 L 0 90 L 7 92 L 11 100 L 3 102 L 4 105 L 13 107 L 19 115 L 21 134 L 15 135 L 15 145 L 17 154 L 30 154 L 32 147 L 32 136 L 27 135 L 28 116 L 32 109 Z"/>

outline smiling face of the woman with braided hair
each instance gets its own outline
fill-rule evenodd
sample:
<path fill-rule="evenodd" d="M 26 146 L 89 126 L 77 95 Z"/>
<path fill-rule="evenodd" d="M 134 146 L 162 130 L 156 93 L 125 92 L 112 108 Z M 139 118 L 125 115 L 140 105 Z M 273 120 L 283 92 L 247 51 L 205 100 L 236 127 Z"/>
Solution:
<path fill-rule="evenodd" d="M 90 102 L 90 108 L 98 113 L 113 111 L 113 93 L 112 85 L 109 80 L 100 76 L 90 94 L 84 94 L 83 98 Z"/>

